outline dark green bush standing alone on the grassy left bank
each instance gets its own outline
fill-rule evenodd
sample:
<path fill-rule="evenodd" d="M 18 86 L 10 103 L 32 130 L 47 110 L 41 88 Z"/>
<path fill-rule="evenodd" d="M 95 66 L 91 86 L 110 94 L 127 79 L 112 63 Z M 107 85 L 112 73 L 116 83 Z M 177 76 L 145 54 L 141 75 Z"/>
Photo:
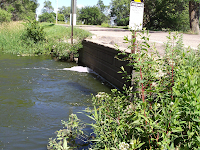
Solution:
<path fill-rule="evenodd" d="M 27 41 L 28 39 L 33 40 L 35 43 L 45 40 L 44 28 L 39 25 L 36 20 L 30 21 L 26 24 L 26 32 L 22 38 Z"/>

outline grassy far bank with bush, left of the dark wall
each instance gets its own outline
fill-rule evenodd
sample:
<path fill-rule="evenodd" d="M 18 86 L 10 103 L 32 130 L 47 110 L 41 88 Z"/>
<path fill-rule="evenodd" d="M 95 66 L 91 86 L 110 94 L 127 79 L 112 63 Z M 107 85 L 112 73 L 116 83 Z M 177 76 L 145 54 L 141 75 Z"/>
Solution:
<path fill-rule="evenodd" d="M 74 28 L 74 45 L 71 45 L 71 28 L 37 21 L 10 22 L 0 26 L 0 47 L 5 53 L 20 56 L 53 55 L 68 59 L 77 55 L 82 40 L 90 33 Z"/>

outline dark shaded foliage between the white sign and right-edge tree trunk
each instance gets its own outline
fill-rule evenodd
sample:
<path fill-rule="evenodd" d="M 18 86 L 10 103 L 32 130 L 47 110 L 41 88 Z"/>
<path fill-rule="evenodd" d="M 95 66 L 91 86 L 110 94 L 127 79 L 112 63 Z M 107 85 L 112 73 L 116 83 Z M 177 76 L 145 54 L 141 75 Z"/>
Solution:
<path fill-rule="evenodd" d="M 145 1 L 144 25 L 150 30 L 189 30 L 189 3 L 187 1 Z"/>

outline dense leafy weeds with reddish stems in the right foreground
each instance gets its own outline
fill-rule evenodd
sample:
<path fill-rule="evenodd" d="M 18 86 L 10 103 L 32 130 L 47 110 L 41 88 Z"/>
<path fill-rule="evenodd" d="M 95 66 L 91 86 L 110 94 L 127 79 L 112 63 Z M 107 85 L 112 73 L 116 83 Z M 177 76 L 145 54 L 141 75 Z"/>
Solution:
<path fill-rule="evenodd" d="M 83 122 L 72 114 L 62 121 L 64 129 L 49 140 L 48 149 L 76 149 L 78 141 L 105 150 L 199 149 L 200 47 L 185 48 L 180 34 L 169 34 L 165 55 L 160 56 L 148 44 L 148 34 L 140 36 L 135 54 L 119 52 L 134 68 L 132 76 L 121 67 L 133 86 L 95 95 L 94 109 L 85 110 L 94 132 L 87 135 Z"/>

